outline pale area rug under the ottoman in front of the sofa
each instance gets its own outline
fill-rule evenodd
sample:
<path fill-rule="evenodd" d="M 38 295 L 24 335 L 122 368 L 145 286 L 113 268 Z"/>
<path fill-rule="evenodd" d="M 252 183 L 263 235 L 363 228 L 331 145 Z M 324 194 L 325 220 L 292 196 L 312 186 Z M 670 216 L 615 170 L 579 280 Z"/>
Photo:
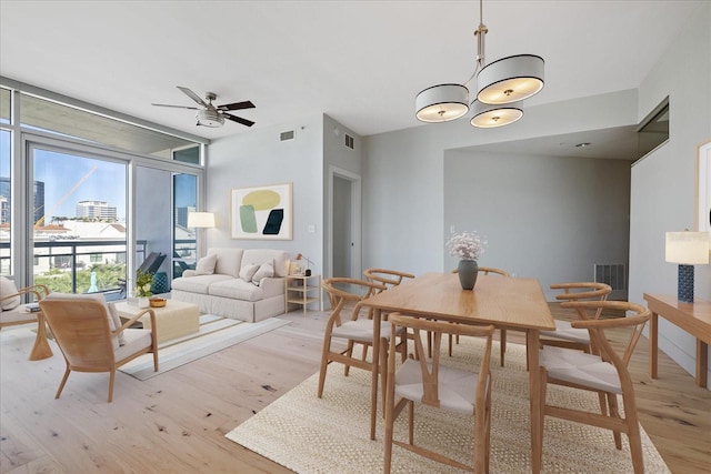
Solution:
<path fill-rule="evenodd" d="M 200 330 L 197 333 L 158 344 L 158 372 L 153 371 L 152 354 L 141 355 L 122 365 L 119 371 L 139 380 L 148 380 L 287 324 L 291 323 L 278 317 L 246 323 L 203 314 L 200 316 Z"/>

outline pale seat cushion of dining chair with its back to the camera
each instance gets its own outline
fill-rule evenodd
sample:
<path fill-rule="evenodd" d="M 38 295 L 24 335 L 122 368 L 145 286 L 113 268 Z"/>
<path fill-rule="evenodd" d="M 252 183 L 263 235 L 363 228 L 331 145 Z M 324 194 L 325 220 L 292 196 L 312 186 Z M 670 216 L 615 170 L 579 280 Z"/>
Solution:
<path fill-rule="evenodd" d="M 431 364 L 428 365 L 431 369 Z M 471 415 L 474 412 L 474 390 L 478 382 L 479 374 L 475 372 L 440 365 L 440 407 Z M 408 359 L 395 372 L 395 400 L 402 397 L 419 402 L 423 394 L 420 362 Z"/>

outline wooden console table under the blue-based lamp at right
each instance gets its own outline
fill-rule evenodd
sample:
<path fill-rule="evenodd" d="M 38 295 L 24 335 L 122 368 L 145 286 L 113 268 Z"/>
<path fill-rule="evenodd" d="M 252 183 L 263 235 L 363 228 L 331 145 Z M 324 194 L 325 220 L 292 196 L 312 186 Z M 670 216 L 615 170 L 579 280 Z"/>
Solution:
<path fill-rule="evenodd" d="M 684 303 L 669 294 L 644 293 L 647 306 L 652 312 L 649 326 L 649 376 L 657 379 L 658 316 L 681 327 L 697 337 L 697 385 L 707 386 L 709 344 L 711 344 L 711 301 L 695 300 Z"/>

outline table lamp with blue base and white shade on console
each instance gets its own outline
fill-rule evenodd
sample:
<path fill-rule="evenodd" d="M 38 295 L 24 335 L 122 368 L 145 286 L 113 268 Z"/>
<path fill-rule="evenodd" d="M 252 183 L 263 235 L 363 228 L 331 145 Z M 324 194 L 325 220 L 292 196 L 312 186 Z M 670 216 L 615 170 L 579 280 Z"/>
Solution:
<path fill-rule="evenodd" d="M 678 300 L 693 303 L 693 265 L 709 264 L 709 233 L 667 232 L 664 260 L 679 263 Z"/>

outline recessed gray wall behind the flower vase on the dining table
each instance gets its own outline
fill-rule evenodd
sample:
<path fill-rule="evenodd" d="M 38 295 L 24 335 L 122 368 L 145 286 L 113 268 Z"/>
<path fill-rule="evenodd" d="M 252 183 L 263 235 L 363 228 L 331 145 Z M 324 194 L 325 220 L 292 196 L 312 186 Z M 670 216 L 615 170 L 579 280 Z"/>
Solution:
<path fill-rule="evenodd" d="M 475 230 L 480 265 L 537 278 L 549 300 L 551 283 L 590 281 L 594 263 L 627 265 L 627 161 L 450 151 L 444 182 L 445 238 Z"/>

